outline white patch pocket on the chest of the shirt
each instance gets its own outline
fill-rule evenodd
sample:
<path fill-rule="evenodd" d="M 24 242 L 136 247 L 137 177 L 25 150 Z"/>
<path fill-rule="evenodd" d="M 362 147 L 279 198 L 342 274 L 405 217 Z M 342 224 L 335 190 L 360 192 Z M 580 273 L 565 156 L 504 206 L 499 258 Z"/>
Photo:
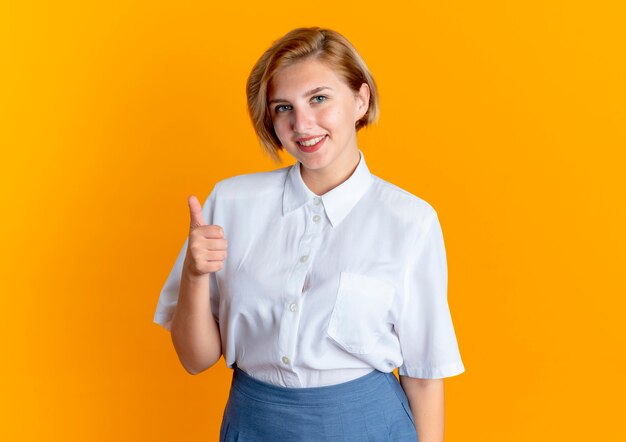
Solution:
<path fill-rule="evenodd" d="M 383 280 L 341 272 L 326 334 L 350 353 L 369 353 L 388 330 L 394 296 L 394 287 Z"/>

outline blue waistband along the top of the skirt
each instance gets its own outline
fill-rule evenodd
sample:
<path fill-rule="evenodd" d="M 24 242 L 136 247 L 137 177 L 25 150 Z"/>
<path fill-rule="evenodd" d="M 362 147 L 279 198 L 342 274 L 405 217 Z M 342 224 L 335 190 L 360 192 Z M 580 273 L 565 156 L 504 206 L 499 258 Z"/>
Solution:
<path fill-rule="evenodd" d="M 293 406 L 323 406 L 346 400 L 359 401 L 381 386 L 388 387 L 388 376 L 395 378 L 392 372 L 384 373 L 374 369 L 364 376 L 340 384 L 290 388 L 253 378 L 235 364 L 232 387 L 259 401 Z"/>

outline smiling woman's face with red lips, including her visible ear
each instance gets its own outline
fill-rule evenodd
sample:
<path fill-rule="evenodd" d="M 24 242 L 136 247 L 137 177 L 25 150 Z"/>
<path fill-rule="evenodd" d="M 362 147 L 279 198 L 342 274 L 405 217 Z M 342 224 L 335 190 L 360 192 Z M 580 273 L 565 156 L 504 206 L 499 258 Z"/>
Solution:
<path fill-rule="evenodd" d="M 355 93 L 325 63 L 308 59 L 274 76 L 268 102 L 278 139 L 306 173 L 340 176 L 356 166 L 355 123 L 367 112 L 367 84 Z"/>

